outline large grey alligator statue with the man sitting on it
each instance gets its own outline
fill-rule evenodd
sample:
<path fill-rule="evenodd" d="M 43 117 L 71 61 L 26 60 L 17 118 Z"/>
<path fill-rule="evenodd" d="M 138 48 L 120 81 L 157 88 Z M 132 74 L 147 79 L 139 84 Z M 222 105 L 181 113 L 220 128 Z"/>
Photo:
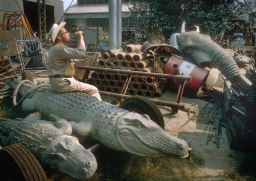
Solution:
<path fill-rule="evenodd" d="M 16 89 L 19 80 L 5 80 Z M 33 84 L 23 84 L 18 92 L 26 94 Z M 38 111 L 45 117 L 58 115 L 72 125 L 72 134 L 91 137 L 103 145 L 141 156 L 188 156 L 188 144 L 164 131 L 148 115 L 131 113 L 110 103 L 100 102 L 85 93 L 56 93 L 43 87 L 22 103 L 27 112 Z"/>

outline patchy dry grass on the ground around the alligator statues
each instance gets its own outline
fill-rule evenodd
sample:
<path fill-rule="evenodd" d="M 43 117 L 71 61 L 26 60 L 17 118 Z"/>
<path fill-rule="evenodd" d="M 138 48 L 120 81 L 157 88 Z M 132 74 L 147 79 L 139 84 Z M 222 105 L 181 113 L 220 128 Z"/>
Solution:
<path fill-rule="evenodd" d="M 116 104 L 113 97 L 102 96 L 103 101 Z M 0 100 L 0 117 L 24 118 L 28 115 L 21 107 L 14 107 L 10 97 Z M 93 142 L 79 139 L 88 148 Z M 88 145 L 89 144 L 89 145 Z M 91 144 L 91 145 L 90 145 Z M 192 151 L 191 160 L 170 157 L 140 157 L 102 147 L 94 152 L 98 169 L 89 181 L 194 181 L 197 180 L 198 166 L 204 165 L 204 159 Z M 224 181 L 254 181 L 256 175 L 256 158 L 253 155 L 229 155 L 237 159 L 234 171 L 226 171 Z M 53 169 L 51 169 L 53 170 Z M 67 175 L 56 174 L 46 170 L 49 181 L 75 181 Z"/>

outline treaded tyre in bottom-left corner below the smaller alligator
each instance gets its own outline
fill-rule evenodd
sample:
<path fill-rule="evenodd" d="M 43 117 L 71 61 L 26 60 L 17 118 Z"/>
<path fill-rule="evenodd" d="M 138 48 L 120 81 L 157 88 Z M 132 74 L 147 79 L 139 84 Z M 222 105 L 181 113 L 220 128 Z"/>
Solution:
<path fill-rule="evenodd" d="M 23 145 L 16 143 L 0 150 L 1 181 L 47 181 L 36 157 Z"/>

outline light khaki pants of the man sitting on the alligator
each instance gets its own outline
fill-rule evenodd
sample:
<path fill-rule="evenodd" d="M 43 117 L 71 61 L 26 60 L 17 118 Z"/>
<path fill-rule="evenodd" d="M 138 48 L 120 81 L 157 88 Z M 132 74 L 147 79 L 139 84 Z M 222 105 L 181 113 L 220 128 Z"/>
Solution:
<path fill-rule="evenodd" d="M 99 101 L 101 100 L 100 93 L 95 86 L 79 82 L 76 79 L 72 78 L 50 78 L 51 88 L 58 93 L 66 92 L 84 92 L 92 97 L 95 97 Z"/>

